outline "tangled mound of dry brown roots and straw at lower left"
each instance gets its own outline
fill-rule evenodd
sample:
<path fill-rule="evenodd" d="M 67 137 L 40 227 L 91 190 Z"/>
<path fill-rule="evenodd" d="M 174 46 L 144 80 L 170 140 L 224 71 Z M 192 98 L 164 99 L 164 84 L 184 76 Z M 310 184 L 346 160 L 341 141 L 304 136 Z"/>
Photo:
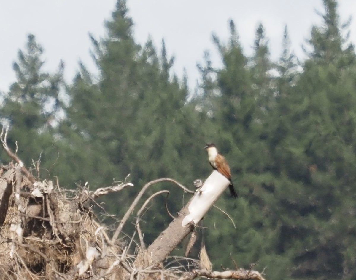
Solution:
<path fill-rule="evenodd" d="M 51 181 L 31 183 L 17 167 L 7 166 L 0 178 L 0 279 L 75 279 L 105 271 L 122 249 L 108 248 L 104 227 L 83 207 L 87 191 L 71 196 Z"/>

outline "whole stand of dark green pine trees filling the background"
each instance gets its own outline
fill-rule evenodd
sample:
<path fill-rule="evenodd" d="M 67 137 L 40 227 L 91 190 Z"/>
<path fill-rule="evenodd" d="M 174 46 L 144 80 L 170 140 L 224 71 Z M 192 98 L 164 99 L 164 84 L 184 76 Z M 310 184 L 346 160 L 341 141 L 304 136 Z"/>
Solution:
<path fill-rule="evenodd" d="M 213 68 L 204 53 L 195 89 L 174 74 L 164 41 L 159 50 L 150 39 L 135 42 L 122 0 L 106 22 L 108 35 L 91 37 L 99 79 L 83 63 L 71 83 L 61 61 L 58 71 L 44 71 L 43 47 L 29 34 L 14 63 L 17 80 L 1 93 L 9 145 L 17 144 L 27 166 L 40 161 L 42 178 L 58 176 L 67 188 L 89 182 L 96 189 L 130 174 L 135 187 L 102 201 L 117 215 L 152 179 L 193 188 L 211 172 L 204 145 L 215 142 L 239 193 L 234 200 L 226 192 L 217 203 L 236 228 L 216 209 L 204 218 L 216 268 L 234 266 L 231 253 L 241 267 L 258 262 L 267 279 L 355 279 L 356 56 L 337 1 L 323 4 L 303 63 L 287 27 L 272 61 L 262 24 L 246 56 L 230 21 L 229 40 L 213 35 L 222 66 Z M 4 151 L 0 160 L 9 161 Z M 186 196 L 172 188 L 171 210 Z M 150 243 L 170 221 L 164 199 L 146 217 Z"/>

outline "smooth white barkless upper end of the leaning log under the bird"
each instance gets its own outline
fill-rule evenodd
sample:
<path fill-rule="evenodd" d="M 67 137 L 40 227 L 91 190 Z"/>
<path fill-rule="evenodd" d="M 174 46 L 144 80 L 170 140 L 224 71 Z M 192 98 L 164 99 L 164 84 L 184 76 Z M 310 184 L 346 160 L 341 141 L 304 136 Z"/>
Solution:
<path fill-rule="evenodd" d="M 230 185 L 230 181 L 224 175 L 214 170 L 208 179 L 206 179 L 203 186 L 195 192 L 188 206 L 189 214 L 184 217 L 182 226 L 188 225 L 191 221 L 196 225 L 228 185 Z"/>

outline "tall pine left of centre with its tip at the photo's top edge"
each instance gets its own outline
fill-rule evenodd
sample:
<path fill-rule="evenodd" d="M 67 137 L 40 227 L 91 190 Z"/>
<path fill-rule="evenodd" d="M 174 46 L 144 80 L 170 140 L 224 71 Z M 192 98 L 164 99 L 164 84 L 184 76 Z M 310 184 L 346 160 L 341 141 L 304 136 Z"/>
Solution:
<path fill-rule="evenodd" d="M 75 149 L 84 163 L 79 178 L 93 187 L 111 184 L 113 178 L 125 178 L 130 173 L 123 162 L 127 156 L 127 131 L 135 121 L 140 71 L 136 56 L 140 46 L 133 40 L 133 22 L 127 12 L 125 1 L 117 1 L 112 20 L 106 22 L 108 37 L 98 41 L 91 36 L 99 82 L 95 83 L 85 66 L 80 65 L 69 89 L 69 119 L 62 133 L 70 142 L 76 139 Z M 87 157 L 90 160 L 84 160 Z"/>

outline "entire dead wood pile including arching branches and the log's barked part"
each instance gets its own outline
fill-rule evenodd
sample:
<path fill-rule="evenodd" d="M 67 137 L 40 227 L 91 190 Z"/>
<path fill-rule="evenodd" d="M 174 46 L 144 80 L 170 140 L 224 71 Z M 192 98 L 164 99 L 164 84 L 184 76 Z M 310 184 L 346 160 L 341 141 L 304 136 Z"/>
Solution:
<path fill-rule="evenodd" d="M 14 162 L 0 166 L 0 280 L 190 280 L 197 277 L 263 280 L 261 274 L 253 270 L 211 271 L 205 247 L 201 259 L 190 260 L 189 266 L 165 268 L 163 263 L 176 244 L 194 230 L 192 224 L 181 225 L 187 211 L 185 206 L 177 217 L 173 217 L 168 228 L 145 247 L 140 214 L 148 201 L 167 193 L 166 190 L 152 195 L 138 210 L 135 234 L 141 244 L 135 254 L 130 254 L 135 248 L 133 238 L 129 244 L 120 243 L 118 239 L 145 190 L 154 183 L 169 181 L 187 192 L 192 191 L 169 178 L 147 183 L 111 234 L 96 221 L 91 206 L 99 196 L 118 192 L 132 186 L 131 183 L 123 182 L 95 191 L 85 186 L 70 191 L 62 189 L 56 180 L 41 181 L 7 146 L 6 133 L 2 131 L 1 142 Z M 193 240 L 194 234 L 192 236 Z"/>

